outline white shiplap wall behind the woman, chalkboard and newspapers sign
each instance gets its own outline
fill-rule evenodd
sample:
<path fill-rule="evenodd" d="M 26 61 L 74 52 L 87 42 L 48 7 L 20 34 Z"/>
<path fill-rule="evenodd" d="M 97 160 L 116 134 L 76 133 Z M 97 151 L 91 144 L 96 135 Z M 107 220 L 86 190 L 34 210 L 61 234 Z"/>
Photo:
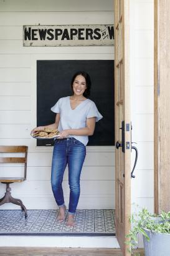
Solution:
<path fill-rule="evenodd" d="M 27 209 L 55 209 L 50 187 L 52 149 L 36 147 L 30 131 L 36 126 L 36 61 L 38 59 L 114 59 L 113 47 L 23 47 L 22 26 L 34 24 L 111 24 L 112 0 L 0 1 L 0 144 L 28 145 L 27 180 L 11 184 L 12 195 Z M 0 166 L 17 175 L 22 168 Z M 64 177 L 68 204 L 67 171 Z M 0 197 L 5 185 L 0 184 Z M 115 207 L 115 149 L 87 147 L 81 176 L 80 209 Z M 1 209 L 18 209 L 4 204 Z"/>

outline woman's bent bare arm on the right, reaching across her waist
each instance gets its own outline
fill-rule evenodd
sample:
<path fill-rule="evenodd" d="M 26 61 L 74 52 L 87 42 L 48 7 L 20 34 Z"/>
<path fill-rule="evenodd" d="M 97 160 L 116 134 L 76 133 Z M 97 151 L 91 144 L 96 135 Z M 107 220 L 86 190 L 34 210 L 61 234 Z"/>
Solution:
<path fill-rule="evenodd" d="M 60 132 L 59 139 L 63 139 L 68 135 L 77 135 L 77 136 L 93 135 L 95 130 L 95 122 L 96 122 L 95 117 L 87 118 L 86 127 L 80 128 L 80 129 L 62 130 L 62 132 Z"/>

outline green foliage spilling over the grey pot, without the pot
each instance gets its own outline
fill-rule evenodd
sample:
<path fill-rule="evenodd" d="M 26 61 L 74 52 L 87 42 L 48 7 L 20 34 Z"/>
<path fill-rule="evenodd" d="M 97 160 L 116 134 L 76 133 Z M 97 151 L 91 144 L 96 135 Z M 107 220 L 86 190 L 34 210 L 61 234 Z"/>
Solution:
<path fill-rule="evenodd" d="M 144 231 L 148 229 L 151 232 L 170 234 L 170 212 L 161 212 L 159 215 L 153 215 L 147 209 L 142 209 L 138 214 L 131 215 L 130 218 L 131 230 L 126 235 L 126 244 L 130 246 L 131 250 L 138 245 L 138 234 L 144 235 L 149 241 L 149 237 Z"/>

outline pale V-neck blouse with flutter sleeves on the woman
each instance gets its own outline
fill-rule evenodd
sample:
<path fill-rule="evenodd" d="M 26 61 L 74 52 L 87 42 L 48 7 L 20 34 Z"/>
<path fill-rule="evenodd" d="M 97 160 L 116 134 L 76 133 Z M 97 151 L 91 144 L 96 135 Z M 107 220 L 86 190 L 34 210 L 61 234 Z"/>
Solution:
<path fill-rule="evenodd" d="M 90 99 L 82 101 L 75 109 L 72 109 L 70 96 L 60 98 L 51 110 L 55 113 L 60 113 L 59 131 L 84 128 L 87 127 L 87 118 L 96 117 L 96 122 L 98 122 L 103 117 L 98 112 L 95 102 Z M 70 135 L 70 137 L 74 137 L 84 145 L 88 143 L 88 135 Z"/>

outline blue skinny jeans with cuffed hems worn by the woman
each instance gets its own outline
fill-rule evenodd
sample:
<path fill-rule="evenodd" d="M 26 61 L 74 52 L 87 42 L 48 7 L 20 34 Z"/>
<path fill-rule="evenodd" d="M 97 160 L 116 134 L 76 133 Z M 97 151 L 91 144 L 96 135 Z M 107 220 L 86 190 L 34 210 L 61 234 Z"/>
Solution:
<path fill-rule="evenodd" d="M 68 164 L 68 183 L 70 186 L 70 200 L 68 213 L 75 214 L 80 197 L 80 174 L 85 160 L 86 147 L 75 138 L 57 139 L 54 143 L 52 156 L 51 185 L 57 205 L 64 205 L 62 181 Z"/>

